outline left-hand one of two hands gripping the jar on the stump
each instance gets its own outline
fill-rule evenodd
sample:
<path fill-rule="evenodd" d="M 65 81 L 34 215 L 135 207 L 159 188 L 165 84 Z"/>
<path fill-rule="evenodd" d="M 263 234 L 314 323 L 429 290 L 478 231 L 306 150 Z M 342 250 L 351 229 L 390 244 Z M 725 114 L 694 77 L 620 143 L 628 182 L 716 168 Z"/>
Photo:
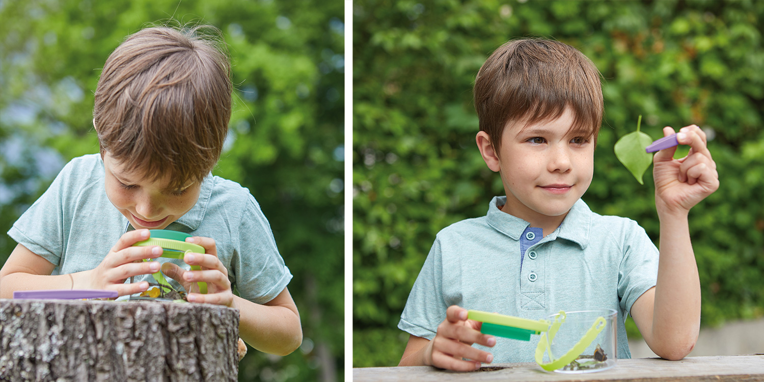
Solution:
<path fill-rule="evenodd" d="M 162 255 L 159 246 L 133 247 L 138 241 L 149 238 L 147 229 L 125 232 L 104 257 L 101 264 L 92 270 L 81 272 L 82 277 L 75 281 L 75 289 L 116 290 L 119 296 L 141 293 L 148 289 L 148 283 L 125 283 L 129 277 L 141 274 L 154 274 L 160 270 L 158 261 L 147 261 Z"/>

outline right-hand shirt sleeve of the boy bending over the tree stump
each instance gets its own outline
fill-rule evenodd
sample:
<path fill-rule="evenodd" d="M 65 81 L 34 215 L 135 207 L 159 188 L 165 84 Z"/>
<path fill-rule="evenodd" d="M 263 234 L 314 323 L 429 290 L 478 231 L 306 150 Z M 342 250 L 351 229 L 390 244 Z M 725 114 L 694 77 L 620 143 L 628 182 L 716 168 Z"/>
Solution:
<path fill-rule="evenodd" d="M 276 246 L 270 224 L 249 195 L 238 231 L 238 251 L 231 259 L 236 287 L 242 298 L 264 304 L 274 299 L 292 280 Z"/>

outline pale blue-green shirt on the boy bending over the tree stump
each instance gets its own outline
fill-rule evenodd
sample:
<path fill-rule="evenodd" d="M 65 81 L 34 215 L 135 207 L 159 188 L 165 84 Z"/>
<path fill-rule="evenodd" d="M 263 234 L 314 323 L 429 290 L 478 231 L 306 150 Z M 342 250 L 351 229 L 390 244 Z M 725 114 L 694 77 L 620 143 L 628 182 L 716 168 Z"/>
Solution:
<path fill-rule="evenodd" d="M 53 274 L 71 274 L 101 264 L 128 229 L 128 219 L 106 196 L 100 154 L 89 154 L 67 163 L 8 235 L 56 265 Z M 231 288 L 254 303 L 274 299 L 292 279 L 260 206 L 238 183 L 209 174 L 196 205 L 165 229 L 215 239 Z M 188 269 L 182 260 L 157 260 Z M 153 281 L 151 275 L 134 278 L 141 280 Z"/>

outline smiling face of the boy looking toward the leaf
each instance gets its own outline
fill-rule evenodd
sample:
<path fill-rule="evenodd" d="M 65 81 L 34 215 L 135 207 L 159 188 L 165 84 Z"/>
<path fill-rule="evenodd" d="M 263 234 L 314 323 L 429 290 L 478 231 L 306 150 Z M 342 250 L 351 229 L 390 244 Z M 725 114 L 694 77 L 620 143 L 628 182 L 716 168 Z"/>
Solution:
<path fill-rule="evenodd" d="M 504 212 L 531 223 L 557 217 L 559 224 L 584 195 L 594 173 L 594 137 L 569 132 L 573 119 L 565 108 L 553 121 L 504 129 L 498 159 Z"/>

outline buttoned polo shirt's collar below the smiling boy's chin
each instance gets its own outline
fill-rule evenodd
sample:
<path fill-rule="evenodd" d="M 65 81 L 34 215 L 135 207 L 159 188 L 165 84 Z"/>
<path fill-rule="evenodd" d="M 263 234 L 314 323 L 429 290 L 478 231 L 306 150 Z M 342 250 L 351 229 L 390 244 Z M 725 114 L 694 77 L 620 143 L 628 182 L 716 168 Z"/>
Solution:
<path fill-rule="evenodd" d="M 488 225 L 509 236 L 513 240 L 520 240 L 520 235 L 529 227 L 530 223 L 507 212 L 502 212 L 498 206 L 507 202 L 507 196 L 494 196 L 488 206 L 486 215 Z M 578 244 L 581 249 L 589 244 L 591 228 L 591 209 L 586 203 L 578 199 L 571 207 L 562 224 L 549 234 L 549 240 L 563 238 Z"/>

